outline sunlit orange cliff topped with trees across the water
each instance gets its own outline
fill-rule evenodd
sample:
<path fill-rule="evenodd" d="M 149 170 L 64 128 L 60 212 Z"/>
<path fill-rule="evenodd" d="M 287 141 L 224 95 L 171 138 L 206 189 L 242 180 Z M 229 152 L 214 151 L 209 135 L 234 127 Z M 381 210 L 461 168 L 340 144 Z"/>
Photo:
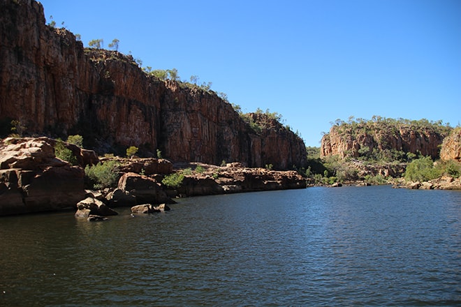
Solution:
<path fill-rule="evenodd" d="M 374 156 L 380 160 L 404 160 L 408 153 L 439 158 L 444 138 L 452 130 L 441 122 L 426 119 L 358 119 L 337 121 L 321 140 L 321 156 L 357 158 Z"/>

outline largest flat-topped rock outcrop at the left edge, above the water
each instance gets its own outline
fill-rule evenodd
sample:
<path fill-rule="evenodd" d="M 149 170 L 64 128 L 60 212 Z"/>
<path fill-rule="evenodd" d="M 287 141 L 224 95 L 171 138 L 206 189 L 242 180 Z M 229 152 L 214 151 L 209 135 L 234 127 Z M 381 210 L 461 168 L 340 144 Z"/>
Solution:
<path fill-rule="evenodd" d="M 85 198 L 82 167 L 56 158 L 54 142 L 0 141 L 0 216 L 71 209 Z"/>

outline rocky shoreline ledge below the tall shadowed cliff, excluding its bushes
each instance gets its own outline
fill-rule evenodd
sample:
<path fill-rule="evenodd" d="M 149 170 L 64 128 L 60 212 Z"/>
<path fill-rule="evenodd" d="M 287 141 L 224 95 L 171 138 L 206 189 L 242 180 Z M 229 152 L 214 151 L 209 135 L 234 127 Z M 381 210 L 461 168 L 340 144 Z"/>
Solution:
<path fill-rule="evenodd" d="M 96 209 L 101 208 L 101 203 L 112 209 L 168 204 L 173 203 L 175 197 L 306 188 L 305 179 L 295 171 L 249 168 L 240 163 L 173 165 L 169 160 L 157 158 L 100 160 L 94 151 L 64 142 L 78 161 L 78 165 L 71 165 L 57 158 L 56 143 L 57 140 L 48 137 L 8 137 L 0 141 L 0 216 L 89 209 L 86 214 L 78 213 L 89 218 L 89 215 L 104 216 L 105 211 L 109 212 Z M 117 186 L 97 192 L 88 190 L 85 167 L 108 160 L 119 164 Z M 198 167 L 200 172 L 195 171 Z M 168 188 L 161 183 L 166 175 L 184 169 L 191 171 L 184 174 L 179 187 Z M 83 205 L 82 200 L 89 204 Z"/>

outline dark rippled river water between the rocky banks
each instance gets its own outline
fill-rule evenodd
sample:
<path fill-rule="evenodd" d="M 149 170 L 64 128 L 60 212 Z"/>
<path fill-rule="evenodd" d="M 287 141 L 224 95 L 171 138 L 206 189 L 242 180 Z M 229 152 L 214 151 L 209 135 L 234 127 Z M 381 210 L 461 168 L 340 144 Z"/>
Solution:
<path fill-rule="evenodd" d="M 460 306 L 461 193 L 191 197 L 102 223 L 0 218 L 0 306 Z"/>

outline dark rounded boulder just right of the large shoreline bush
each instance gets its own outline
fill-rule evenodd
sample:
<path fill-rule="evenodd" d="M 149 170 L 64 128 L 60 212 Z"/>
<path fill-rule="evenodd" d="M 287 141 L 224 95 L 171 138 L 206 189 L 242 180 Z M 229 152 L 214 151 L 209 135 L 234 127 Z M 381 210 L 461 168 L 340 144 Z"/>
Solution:
<path fill-rule="evenodd" d="M 151 203 L 160 204 L 162 202 L 172 203 L 173 200 L 166 195 L 155 179 L 145 175 L 135 174 L 132 172 L 124 174 L 119 179 L 118 188 L 126 190 L 136 197 L 138 204 Z"/>

